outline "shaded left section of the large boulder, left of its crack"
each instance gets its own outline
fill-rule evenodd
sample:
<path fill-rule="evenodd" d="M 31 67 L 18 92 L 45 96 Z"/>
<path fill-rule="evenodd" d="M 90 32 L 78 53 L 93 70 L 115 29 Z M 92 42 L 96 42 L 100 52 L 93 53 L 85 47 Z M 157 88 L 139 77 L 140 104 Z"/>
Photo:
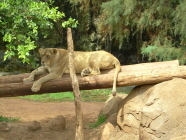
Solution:
<path fill-rule="evenodd" d="M 137 86 L 121 101 L 117 123 L 126 134 L 139 134 L 141 110 L 152 90 L 153 85 Z"/>

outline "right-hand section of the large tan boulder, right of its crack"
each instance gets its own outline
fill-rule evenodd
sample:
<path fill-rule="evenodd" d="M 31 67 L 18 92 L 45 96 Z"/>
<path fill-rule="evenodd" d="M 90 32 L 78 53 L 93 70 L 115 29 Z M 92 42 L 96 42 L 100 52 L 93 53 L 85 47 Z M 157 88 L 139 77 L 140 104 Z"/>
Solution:
<path fill-rule="evenodd" d="M 140 138 L 170 140 L 186 134 L 186 80 L 155 85 L 141 115 Z"/>

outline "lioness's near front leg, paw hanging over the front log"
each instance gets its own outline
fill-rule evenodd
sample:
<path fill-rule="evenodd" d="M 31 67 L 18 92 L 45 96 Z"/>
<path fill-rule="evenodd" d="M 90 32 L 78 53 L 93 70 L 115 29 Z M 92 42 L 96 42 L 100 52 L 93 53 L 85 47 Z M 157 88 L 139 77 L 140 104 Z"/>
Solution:
<path fill-rule="evenodd" d="M 56 73 L 49 73 L 48 75 L 46 75 L 46 76 L 40 78 L 39 80 L 37 80 L 36 82 L 34 82 L 34 84 L 32 85 L 31 90 L 33 92 L 38 92 L 43 83 L 48 82 L 48 81 L 53 80 L 53 79 L 57 79 L 59 77 L 60 77 L 60 75 L 58 75 Z"/>

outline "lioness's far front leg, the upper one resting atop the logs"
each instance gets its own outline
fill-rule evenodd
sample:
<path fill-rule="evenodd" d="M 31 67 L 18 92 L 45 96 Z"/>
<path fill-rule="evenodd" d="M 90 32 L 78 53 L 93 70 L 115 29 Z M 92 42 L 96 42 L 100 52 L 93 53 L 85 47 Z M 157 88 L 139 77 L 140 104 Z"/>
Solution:
<path fill-rule="evenodd" d="M 45 67 L 39 67 L 31 72 L 30 76 L 28 78 L 23 79 L 23 83 L 32 82 L 34 81 L 35 75 L 41 75 L 47 73 L 47 70 Z"/>

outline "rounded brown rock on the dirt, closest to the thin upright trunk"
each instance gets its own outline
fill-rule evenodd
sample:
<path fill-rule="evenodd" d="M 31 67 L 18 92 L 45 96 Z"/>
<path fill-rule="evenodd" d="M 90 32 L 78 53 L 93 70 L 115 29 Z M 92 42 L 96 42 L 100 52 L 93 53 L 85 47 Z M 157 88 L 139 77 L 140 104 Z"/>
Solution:
<path fill-rule="evenodd" d="M 53 118 L 49 122 L 49 128 L 54 131 L 63 130 L 65 129 L 65 126 L 66 126 L 65 117 L 62 115 Z"/>

